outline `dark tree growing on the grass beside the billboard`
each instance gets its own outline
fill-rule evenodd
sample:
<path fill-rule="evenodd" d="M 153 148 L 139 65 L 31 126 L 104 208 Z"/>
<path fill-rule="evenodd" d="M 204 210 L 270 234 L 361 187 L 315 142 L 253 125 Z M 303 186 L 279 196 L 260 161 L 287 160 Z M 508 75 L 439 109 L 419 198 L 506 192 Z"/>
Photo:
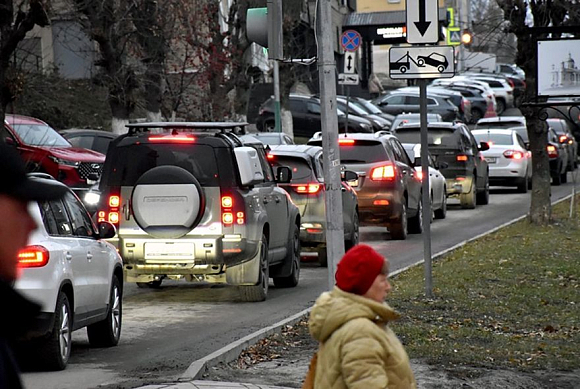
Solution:
<path fill-rule="evenodd" d="M 516 64 L 526 72 L 526 93 L 521 107 L 528 126 L 530 149 L 532 151 L 532 203 L 530 221 L 538 225 L 550 223 L 552 210 L 550 202 L 550 167 L 547 155 L 547 125 L 539 117 L 539 110 L 525 103 L 536 101 L 537 58 L 533 27 L 559 26 L 566 19 L 569 10 L 578 13 L 576 0 L 496 0 L 509 22 L 508 32 L 514 33 L 517 41 Z M 528 20 L 531 15 L 532 20 Z M 575 16 L 577 17 L 577 16 Z M 546 37 L 538 36 L 538 38 Z"/>

